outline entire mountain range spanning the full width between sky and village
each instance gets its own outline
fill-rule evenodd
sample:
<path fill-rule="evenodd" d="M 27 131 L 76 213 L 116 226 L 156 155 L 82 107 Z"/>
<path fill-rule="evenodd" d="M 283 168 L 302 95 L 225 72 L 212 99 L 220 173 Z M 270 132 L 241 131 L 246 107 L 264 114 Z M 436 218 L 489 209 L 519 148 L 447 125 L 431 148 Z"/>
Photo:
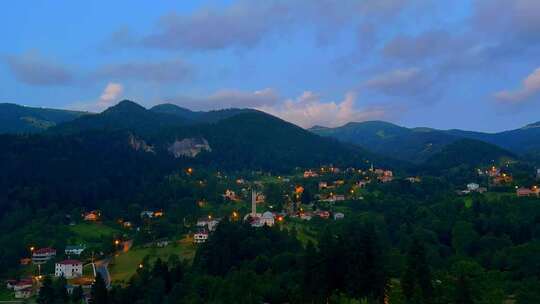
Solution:
<path fill-rule="evenodd" d="M 399 161 L 406 161 L 441 168 L 442 164 L 534 156 L 540 151 L 540 123 L 500 133 L 405 128 L 383 121 L 304 130 L 252 109 L 204 112 L 173 104 L 146 109 L 127 100 L 99 114 L 0 104 L 0 117 L 0 133 L 77 136 L 124 132 L 138 149 L 170 156 L 174 145 L 176 156 L 200 153 L 190 161 L 229 168 L 285 169 L 322 163 L 359 166 L 366 161 L 396 166 L 404 166 Z M 208 147 L 196 147 L 196 143 Z M 477 151 L 484 153 L 477 155 Z"/>

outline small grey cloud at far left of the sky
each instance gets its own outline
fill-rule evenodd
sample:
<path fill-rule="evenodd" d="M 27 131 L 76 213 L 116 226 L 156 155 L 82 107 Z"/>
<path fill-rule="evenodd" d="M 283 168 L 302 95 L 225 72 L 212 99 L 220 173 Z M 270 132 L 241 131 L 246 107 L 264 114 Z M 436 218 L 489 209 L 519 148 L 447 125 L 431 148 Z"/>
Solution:
<path fill-rule="evenodd" d="M 8 56 L 5 63 L 18 81 L 29 85 L 67 85 L 75 78 L 67 66 L 42 58 L 38 54 Z"/>

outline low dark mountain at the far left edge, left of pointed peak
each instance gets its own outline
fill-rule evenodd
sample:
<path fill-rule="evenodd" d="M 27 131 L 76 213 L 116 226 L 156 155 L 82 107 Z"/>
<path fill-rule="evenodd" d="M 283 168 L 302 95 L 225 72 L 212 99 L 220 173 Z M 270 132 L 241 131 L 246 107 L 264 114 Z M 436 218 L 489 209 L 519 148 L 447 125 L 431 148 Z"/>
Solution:
<path fill-rule="evenodd" d="M 85 112 L 0 103 L 0 133 L 36 133 L 76 119 Z"/>

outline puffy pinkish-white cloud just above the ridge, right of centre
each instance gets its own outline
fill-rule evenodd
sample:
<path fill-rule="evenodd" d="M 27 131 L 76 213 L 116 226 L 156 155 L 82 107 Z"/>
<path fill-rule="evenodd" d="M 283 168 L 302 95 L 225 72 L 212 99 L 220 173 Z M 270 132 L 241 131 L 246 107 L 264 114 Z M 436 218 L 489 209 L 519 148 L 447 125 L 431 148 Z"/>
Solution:
<path fill-rule="evenodd" d="M 294 100 L 286 100 L 274 106 L 264 106 L 258 109 L 309 128 L 314 125 L 336 127 L 348 122 L 357 122 L 386 117 L 384 109 L 358 110 L 355 107 L 356 94 L 349 92 L 342 101 L 324 102 L 320 96 L 306 91 Z"/>

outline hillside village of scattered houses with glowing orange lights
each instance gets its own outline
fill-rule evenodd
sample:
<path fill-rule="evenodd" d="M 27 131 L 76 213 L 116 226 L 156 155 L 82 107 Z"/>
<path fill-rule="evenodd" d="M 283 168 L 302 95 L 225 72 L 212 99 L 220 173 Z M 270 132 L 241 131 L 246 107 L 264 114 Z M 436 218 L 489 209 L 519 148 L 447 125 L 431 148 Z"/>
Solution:
<path fill-rule="evenodd" d="M 184 175 L 204 187 L 193 168 Z M 540 179 L 540 169 L 535 172 Z M 530 181 L 518 185 L 508 170 L 496 166 L 478 169 L 477 179 L 456 190 L 466 197 L 486 195 L 492 191 L 517 197 L 540 197 L 540 188 Z M 223 220 L 243 222 L 263 229 L 296 229 L 301 241 L 310 240 L 311 225 L 346 218 L 351 204 L 358 204 L 369 193 L 381 191 L 380 185 L 391 182 L 421 183 L 421 176 L 400 176 L 390 169 L 367 170 L 332 165 L 298 170 L 294 175 L 281 176 L 256 172 L 251 176 L 226 176 L 216 173 L 223 191 L 219 204 L 197 199 L 197 218 L 184 218 L 182 231 L 139 241 L 139 235 L 152 232 L 161 221 L 167 220 L 168 210 L 143 209 L 136 218 L 110 218 L 103 211 L 89 210 L 67 224 L 74 231 L 93 233 L 80 242 L 68 243 L 63 248 L 38 247 L 29 244 L 28 255 L 21 256 L 20 276 L 8 279 L 5 289 L 8 299 L 35 298 L 45 276 L 66 280 L 68 294 L 81 292 L 86 298 L 99 273 L 108 287 L 122 284 L 150 259 L 179 256 L 190 261 L 198 246 L 204 246 Z M 502 189 L 502 190 L 501 190 Z M 97 234 L 96 234 L 97 233 Z M 107 245 L 96 244 L 106 240 Z M 46 245 L 46 244 L 44 244 Z M 78 290 L 77 290 L 78 289 Z M 77 291 L 76 291 L 77 290 Z"/>

